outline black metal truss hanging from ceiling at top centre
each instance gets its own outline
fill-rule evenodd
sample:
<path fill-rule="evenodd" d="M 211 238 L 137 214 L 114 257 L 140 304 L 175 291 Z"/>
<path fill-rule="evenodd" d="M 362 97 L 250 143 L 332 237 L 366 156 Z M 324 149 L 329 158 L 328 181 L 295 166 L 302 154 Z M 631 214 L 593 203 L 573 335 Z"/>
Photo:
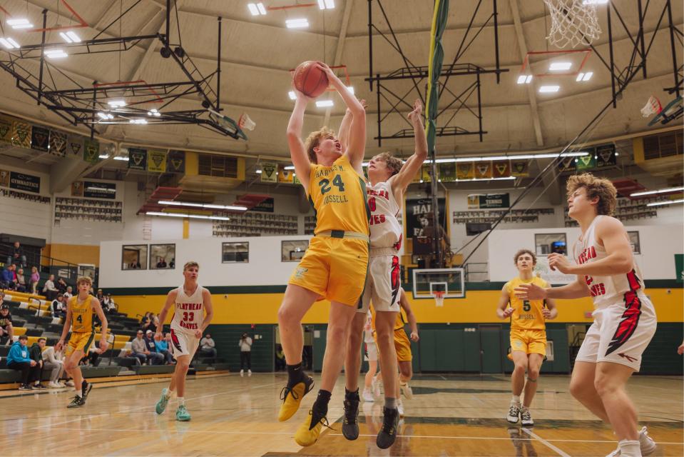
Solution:
<path fill-rule="evenodd" d="M 392 29 L 392 23 L 389 21 L 387 14 L 385 13 L 384 7 L 382 6 L 382 0 L 375 0 L 379 6 L 379 10 L 382 14 L 382 18 L 387 23 L 389 28 L 389 35 L 384 34 L 373 22 L 373 1 L 368 1 L 368 46 L 369 46 L 369 64 L 368 64 L 368 77 L 365 79 L 369 83 L 369 88 L 371 91 L 375 90 L 377 94 L 377 136 L 374 139 L 377 140 L 378 146 L 382 146 L 382 140 L 384 139 L 402 139 L 402 138 L 413 138 L 413 129 L 411 128 L 409 122 L 405 116 L 399 111 L 399 107 L 406 107 L 407 109 L 412 109 L 412 101 L 416 98 L 421 99 L 423 104 L 425 104 L 425 96 L 420 89 L 427 83 L 428 68 L 427 66 L 417 66 L 410 61 L 410 59 L 404 54 L 402 50 L 402 45 L 397 39 L 397 35 L 394 34 L 394 29 Z M 451 64 L 444 64 L 439 75 L 439 96 L 442 101 L 446 101 L 446 106 L 441 108 L 437 113 L 437 119 L 439 116 L 445 113 L 448 109 L 454 109 L 454 113 L 448 118 L 443 116 L 439 119 L 439 125 L 437 126 L 437 136 L 455 136 L 455 135 L 478 135 L 479 140 L 483 141 L 484 134 L 487 131 L 483 130 L 482 126 L 482 104 L 481 104 L 481 75 L 484 74 L 496 74 L 496 82 L 499 83 L 501 73 L 508 71 L 508 69 L 501 69 L 499 65 L 499 23 L 498 14 L 496 11 L 496 0 L 491 0 L 491 14 L 487 17 L 486 21 L 479 27 L 474 27 L 473 23 L 476 15 L 481 9 L 483 0 L 479 0 L 469 21 L 468 27 L 461 38 L 458 50 L 454 56 L 454 60 Z M 490 24 L 494 24 L 494 58 L 496 60 L 496 66 L 494 69 L 484 69 L 481 66 L 474 64 L 469 64 L 461 62 L 461 58 L 464 53 L 469 49 L 469 47 L 478 39 L 479 34 L 484 28 Z M 392 71 L 389 74 L 381 75 L 373 73 L 373 31 L 376 31 L 379 36 L 385 39 L 390 46 L 397 51 L 399 57 L 401 57 L 404 62 L 404 66 L 400 69 Z M 471 33 L 472 32 L 472 33 Z M 459 76 L 460 78 L 469 78 L 469 85 L 464 90 L 456 91 L 449 86 L 449 79 L 452 76 Z M 412 87 L 399 94 L 396 87 L 393 87 L 392 81 L 399 81 L 403 79 L 411 79 Z M 382 111 L 381 101 L 386 101 L 390 108 L 386 112 Z M 470 102 L 470 103 L 469 103 Z M 476 105 L 475 109 L 471 109 L 470 106 Z M 461 126 L 456 125 L 456 115 L 460 112 L 477 119 L 478 129 L 469 130 L 464 129 Z M 382 124 L 383 122 L 392 114 L 398 115 L 400 119 L 407 123 L 407 129 L 400 129 L 394 134 L 383 134 Z M 393 116 L 394 117 L 394 116 Z"/>

